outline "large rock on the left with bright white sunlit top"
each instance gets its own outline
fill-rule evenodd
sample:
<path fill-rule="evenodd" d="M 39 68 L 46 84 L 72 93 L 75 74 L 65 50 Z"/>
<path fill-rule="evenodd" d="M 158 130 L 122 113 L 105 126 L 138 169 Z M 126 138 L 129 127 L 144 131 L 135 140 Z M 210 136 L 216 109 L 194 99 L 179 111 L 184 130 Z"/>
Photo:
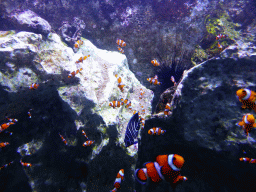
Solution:
<path fill-rule="evenodd" d="M 145 114 L 151 113 L 153 93 L 135 78 L 126 57 L 97 49 L 86 39 L 74 53 L 54 33 L 46 40 L 30 32 L 1 34 L 0 116 L 2 122 L 7 121 L 6 115 L 19 120 L 8 128 L 12 136 L 0 138 L 12 143 L 2 153 L 1 165 L 14 161 L 15 166 L 20 166 L 20 159 L 30 162 L 32 167 L 24 169 L 27 180 L 21 181 L 26 183 L 27 191 L 49 191 L 61 185 L 69 190 L 78 186 L 93 190 L 91 184 L 98 182 L 95 174 L 100 171 L 99 167 L 94 169 L 95 162 L 104 162 L 105 166 L 110 161 L 115 162 L 107 174 L 111 177 L 106 178 L 109 190 L 121 168 L 127 170 L 127 179 L 133 182 L 131 167 L 135 158 L 131 156 L 136 155 L 137 149 L 127 151 L 121 146 L 124 146 L 124 134 L 133 110 L 139 111 L 143 105 Z M 76 63 L 87 55 L 90 57 Z M 68 78 L 70 72 L 79 68 L 83 70 Z M 123 92 L 117 86 L 115 74 L 122 77 Z M 35 82 L 39 83 L 39 88 L 30 90 L 29 86 Z M 143 100 L 139 99 L 140 89 L 145 91 Z M 121 98 L 132 102 L 132 110 L 109 106 L 110 101 Z M 29 110 L 31 119 L 27 115 Z M 79 129 L 85 130 L 88 138 L 95 141 L 91 147 L 82 147 L 86 139 Z M 67 146 L 59 133 L 67 140 Z M 63 171 L 65 175 L 60 176 Z M 70 182 L 75 184 L 70 185 Z"/>

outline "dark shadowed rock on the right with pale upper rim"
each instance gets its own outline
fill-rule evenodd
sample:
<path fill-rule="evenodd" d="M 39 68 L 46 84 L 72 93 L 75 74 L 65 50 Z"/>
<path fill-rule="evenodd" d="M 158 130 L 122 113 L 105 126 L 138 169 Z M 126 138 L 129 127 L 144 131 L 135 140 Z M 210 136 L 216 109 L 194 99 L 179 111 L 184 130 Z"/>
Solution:
<path fill-rule="evenodd" d="M 236 126 L 246 113 L 255 116 L 252 110 L 242 110 L 236 98 L 240 88 L 256 90 L 254 55 L 253 45 L 234 45 L 220 57 L 188 70 L 174 94 L 176 108 L 172 116 L 146 121 L 137 167 L 154 161 L 158 154 L 177 153 L 185 159 L 182 175 L 188 177 L 177 187 L 179 191 L 254 188 L 255 166 L 243 164 L 239 158 L 256 156 L 256 130 L 247 139 L 242 128 Z M 166 134 L 148 135 L 155 126 L 165 129 Z M 138 185 L 137 191 L 172 191 L 166 183 L 152 187 Z"/>

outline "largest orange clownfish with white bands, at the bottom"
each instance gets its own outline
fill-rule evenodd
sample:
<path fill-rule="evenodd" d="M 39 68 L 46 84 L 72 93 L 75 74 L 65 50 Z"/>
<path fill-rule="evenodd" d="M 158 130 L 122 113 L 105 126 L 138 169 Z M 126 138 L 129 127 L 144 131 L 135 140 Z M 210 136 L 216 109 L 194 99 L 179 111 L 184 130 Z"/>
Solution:
<path fill-rule="evenodd" d="M 146 184 L 149 178 L 155 183 L 162 180 L 170 184 L 186 181 L 187 177 L 180 175 L 184 162 L 183 157 L 177 154 L 158 155 L 155 162 L 145 163 L 145 168 L 137 169 L 135 178 L 143 185 Z"/>

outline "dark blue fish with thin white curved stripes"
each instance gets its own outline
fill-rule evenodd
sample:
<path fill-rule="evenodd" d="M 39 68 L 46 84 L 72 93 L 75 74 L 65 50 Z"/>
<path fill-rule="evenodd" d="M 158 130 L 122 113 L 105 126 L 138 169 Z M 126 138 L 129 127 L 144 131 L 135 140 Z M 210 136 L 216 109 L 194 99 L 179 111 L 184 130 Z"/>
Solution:
<path fill-rule="evenodd" d="M 138 143 L 138 141 L 135 141 L 138 137 L 138 131 L 140 129 L 140 121 L 139 121 L 139 114 L 135 113 L 132 118 L 130 119 L 126 132 L 125 132 L 125 146 L 129 147 L 133 144 Z"/>

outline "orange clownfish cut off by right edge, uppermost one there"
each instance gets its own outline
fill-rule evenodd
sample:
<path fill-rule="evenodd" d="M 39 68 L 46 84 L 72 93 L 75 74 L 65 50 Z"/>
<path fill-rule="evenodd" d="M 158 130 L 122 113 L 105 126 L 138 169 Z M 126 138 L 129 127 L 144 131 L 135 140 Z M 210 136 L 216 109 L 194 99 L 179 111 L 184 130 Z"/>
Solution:
<path fill-rule="evenodd" d="M 236 91 L 239 101 L 242 103 L 242 108 L 251 108 L 256 112 L 256 93 L 250 89 L 239 89 Z"/>

